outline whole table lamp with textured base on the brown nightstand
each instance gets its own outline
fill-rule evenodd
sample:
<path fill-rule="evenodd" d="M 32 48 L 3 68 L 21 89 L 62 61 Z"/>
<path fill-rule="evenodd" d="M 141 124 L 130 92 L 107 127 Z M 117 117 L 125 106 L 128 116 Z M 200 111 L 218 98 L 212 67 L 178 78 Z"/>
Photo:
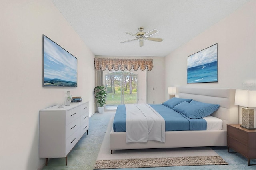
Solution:
<path fill-rule="evenodd" d="M 255 129 L 254 127 L 254 109 L 256 107 L 256 90 L 236 90 L 235 105 L 242 107 L 242 125 L 247 129 Z"/>

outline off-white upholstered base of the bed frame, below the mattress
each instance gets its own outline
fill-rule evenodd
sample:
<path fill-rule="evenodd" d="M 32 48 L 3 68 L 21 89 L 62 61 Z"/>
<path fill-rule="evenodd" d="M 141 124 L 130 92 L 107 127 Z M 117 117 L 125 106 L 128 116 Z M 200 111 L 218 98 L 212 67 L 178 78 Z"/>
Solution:
<path fill-rule="evenodd" d="M 148 140 L 148 142 L 126 143 L 125 132 L 110 132 L 110 150 L 148 149 L 148 148 L 181 148 L 226 146 L 226 130 L 211 131 L 171 131 L 166 132 L 165 142 Z"/>

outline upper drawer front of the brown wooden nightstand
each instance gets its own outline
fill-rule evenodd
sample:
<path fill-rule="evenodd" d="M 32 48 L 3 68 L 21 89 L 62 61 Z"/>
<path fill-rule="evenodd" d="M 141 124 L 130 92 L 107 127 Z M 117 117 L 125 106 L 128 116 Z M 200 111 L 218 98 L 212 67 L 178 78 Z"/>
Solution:
<path fill-rule="evenodd" d="M 238 128 L 228 126 L 228 136 L 248 145 L 248 134 Z"/>

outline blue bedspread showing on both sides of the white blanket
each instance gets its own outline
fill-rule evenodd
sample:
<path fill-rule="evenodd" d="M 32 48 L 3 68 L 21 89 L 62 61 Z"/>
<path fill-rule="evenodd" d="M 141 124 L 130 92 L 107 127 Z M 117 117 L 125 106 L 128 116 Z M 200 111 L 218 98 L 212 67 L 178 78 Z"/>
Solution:
<path fill-rule="evenodd" d="M 150 105 L 165 120 L 165 131 L 181 130 L 206 130 L 207 123 L 204 119 L 190 119 L 162 104 Z M 126 132 L 126 109 L 125 105 L 118 105 L 113 122 L 114 132 Z"/>

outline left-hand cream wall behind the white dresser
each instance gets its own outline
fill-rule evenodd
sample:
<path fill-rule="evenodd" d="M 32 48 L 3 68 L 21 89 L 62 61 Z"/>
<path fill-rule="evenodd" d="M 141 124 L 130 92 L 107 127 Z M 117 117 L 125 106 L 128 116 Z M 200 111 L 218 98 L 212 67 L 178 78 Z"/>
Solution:
<path fill-rule="evenodd" d="M 66 91 L 94 113 L 94 54 L 51 1 L 1 1 L 1 166 L 35 170 L 38 111 L 64 101 Z M 42 34 L 78 59 L 78 87 L 42 87 Z"/>

